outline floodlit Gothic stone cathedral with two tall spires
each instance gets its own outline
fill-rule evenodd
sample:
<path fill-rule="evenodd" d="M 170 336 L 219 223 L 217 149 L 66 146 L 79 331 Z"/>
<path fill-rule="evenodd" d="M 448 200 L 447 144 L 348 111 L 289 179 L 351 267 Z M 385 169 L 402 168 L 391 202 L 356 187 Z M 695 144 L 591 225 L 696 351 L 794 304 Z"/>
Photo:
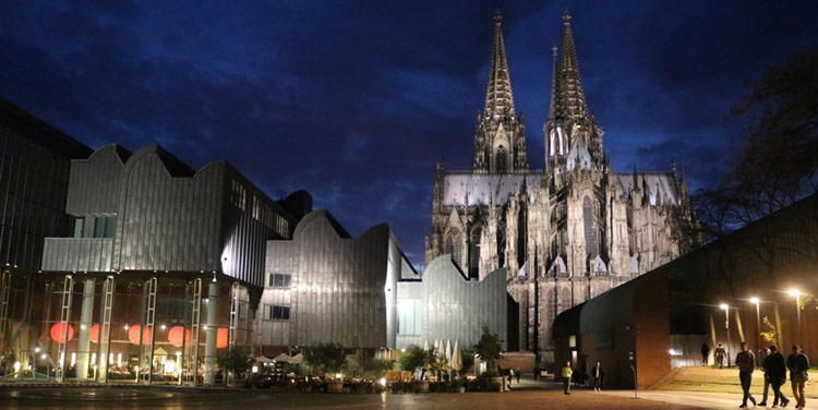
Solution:
<path fill-rule="evenodd" d="M 438 165 L 426 263 L 450 254 L 480 280 L 506 268 L 519 306 L 519 350 L 553 358 L 561 312 L 679 255 L 678 218 L 690 218 L 684 171 L 615 172 L 588 109 L 567 10 L 553 48 L 545 161 L 533 170 L 515 110 L 502 16 L 494 16 L 485 106 L 469 171 Z M 513 349 L 509 346 L 509 349 Z"/>

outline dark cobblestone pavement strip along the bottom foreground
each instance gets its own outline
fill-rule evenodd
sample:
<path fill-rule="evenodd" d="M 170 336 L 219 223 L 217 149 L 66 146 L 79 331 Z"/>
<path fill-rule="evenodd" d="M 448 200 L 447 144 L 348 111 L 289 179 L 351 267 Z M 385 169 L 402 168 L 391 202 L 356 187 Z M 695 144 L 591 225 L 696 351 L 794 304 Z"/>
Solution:
<path fill-rule="evenodd" d="M 693 409 L 681 403 L 633 399 L 615 395 L 576 391 L 565 396 L 554 390 L 510 393 L 428 394 L 428 395 L 327 395 L 266 393 L 168 393 L 123 388 L 4 388 L 0 389 L 2 409 L 397 409 L 397 410 L 480 410 L 480 409 Z M 735 406 L 732 406 L 735 407 Z M 731 408 L 732 408 L 731 407 Z M 701 408 L 701 407 L 699 407 Z"/>

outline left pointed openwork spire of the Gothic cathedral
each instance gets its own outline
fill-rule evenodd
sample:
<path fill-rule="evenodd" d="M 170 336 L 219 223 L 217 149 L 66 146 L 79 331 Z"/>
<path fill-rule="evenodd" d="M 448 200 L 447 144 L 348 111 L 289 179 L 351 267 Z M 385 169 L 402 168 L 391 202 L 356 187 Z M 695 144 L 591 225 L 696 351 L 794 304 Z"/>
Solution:
<path fill-rule="evenodd" d="M 512 81 L 508 77 L 506 46 L 503 41 L 503 15 L 497 10 L 494 12 L 494 44 L 489 68 L 489 84 L 485 91 L 485 114 L 514 116 L 514 113 Z"/>

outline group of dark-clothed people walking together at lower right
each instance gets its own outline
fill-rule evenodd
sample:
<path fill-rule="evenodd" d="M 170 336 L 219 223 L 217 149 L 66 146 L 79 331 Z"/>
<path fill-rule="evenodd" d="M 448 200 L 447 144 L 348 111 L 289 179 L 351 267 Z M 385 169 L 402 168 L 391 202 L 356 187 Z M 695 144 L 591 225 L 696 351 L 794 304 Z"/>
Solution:
<path fill-rule="evenodd" d="M 786 371 L 790 371 L 790 384 L 795 399 L 795 408 L 804 409 L 806 398 L 804 397 L 804 384 L 809 379 L 809 359 L 801 350 L 801 347 L 793 346 L 793 352 L 786 358 L 779 352 L 775 345 L 765 348 L 767 354 L 761 361 L 761 370 L 765 372 L 765 390 L 763 398 L 758 406 L 767 406 L 767 396 L 769 388 L 772 387 L 773 400 L 772 407 L 786 407 L 790 399 L 781 391 L 781 387 L 786 383 Z M 742 382 L 744 398 L 739 408 L 747 408 L 747 400 L 756 406 L 756 398 L 749 393 L 750 383 L 753 382 L 753 371 L 756 369 L 756 360 L 753 351 L 747 347 L 747 342 L 742 342 L 742 351 L 735 358 L 735 364 L 738 366 L 738 377 Z"/>

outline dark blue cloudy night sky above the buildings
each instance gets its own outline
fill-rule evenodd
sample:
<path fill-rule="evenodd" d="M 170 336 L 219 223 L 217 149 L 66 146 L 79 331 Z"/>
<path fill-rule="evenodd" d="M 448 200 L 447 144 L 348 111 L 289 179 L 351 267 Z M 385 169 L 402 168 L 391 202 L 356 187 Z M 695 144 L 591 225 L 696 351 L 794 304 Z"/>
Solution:
<path fill-rule="evenodd" d="M 422 263 L 435 162 L 473 154 L 495 9 L 532 166 L 568 7 L 613 168 L 675 156 L 697 188 L 725 169 L 746 81 L 818 45 L 816 4 L 0 0 L 0 96 L 94 148 L 158 143 L 270 195 L 308 189 L 352 234 L 388 222 Z"/>

